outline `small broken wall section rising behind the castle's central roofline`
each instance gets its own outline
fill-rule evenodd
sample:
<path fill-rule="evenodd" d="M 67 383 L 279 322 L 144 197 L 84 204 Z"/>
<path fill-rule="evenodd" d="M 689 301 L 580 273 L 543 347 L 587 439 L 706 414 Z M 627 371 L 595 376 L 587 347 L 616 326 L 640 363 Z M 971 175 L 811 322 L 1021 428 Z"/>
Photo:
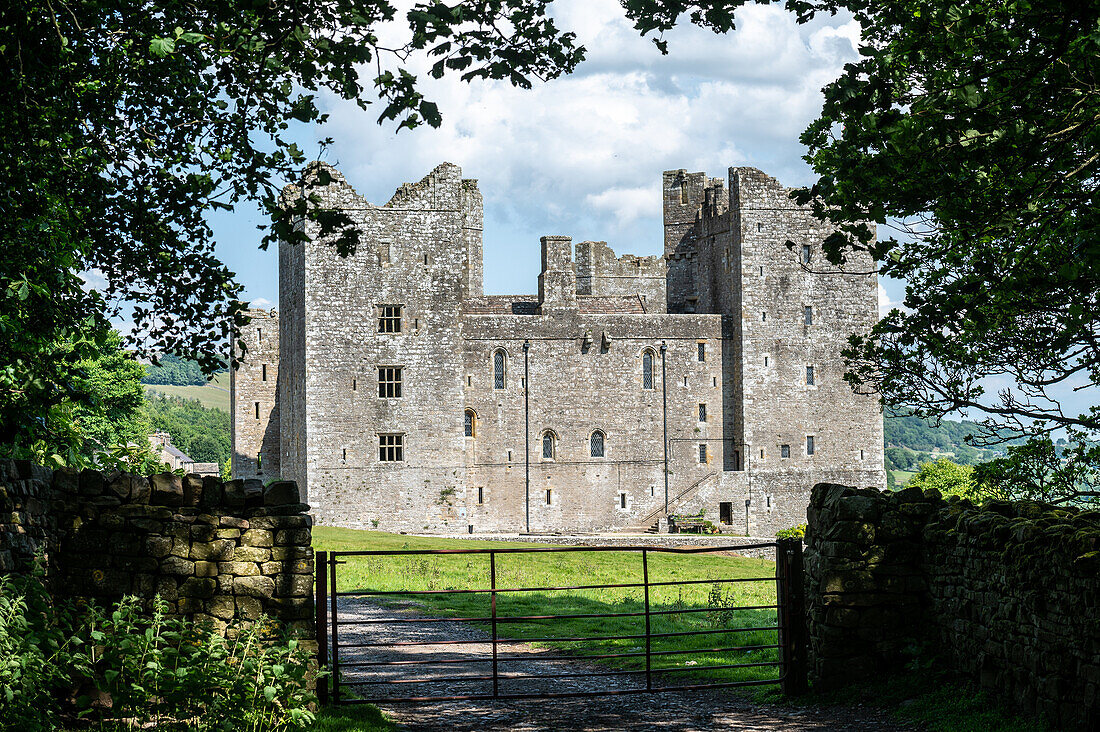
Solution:
<path fill-rule="evenodd" d="M 615 252 L 604 241 L 576 244 L 576 291 L 581 295 L 639 295 L 647 313 L 664 313 L 668 267 L 663 258 Z"/>

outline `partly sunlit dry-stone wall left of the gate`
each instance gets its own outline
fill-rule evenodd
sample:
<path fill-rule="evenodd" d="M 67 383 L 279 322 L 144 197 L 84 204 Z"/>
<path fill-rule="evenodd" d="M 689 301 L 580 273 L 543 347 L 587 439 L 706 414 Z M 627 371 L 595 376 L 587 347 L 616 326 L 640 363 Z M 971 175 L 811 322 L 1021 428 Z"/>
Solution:
<path fill-rule="evenodd" d="M 55 596 L 124 594 L 224 627 L 267 614 L 314 635 L 309 506 L 289 481 L 51 472 L 0 462 L 0 570 L 47 558 Z"/>

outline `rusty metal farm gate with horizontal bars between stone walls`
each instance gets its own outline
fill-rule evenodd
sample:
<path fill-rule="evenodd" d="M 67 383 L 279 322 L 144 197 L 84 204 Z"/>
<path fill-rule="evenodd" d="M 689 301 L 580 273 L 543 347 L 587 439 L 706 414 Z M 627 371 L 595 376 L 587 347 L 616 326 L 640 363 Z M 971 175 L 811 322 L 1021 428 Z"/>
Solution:
<path fill-rule="evenodd" d="M 672 579 L 652 581 L 651 558 L 653 555 L 684 555 L 739 553 L 747 549 L 776 553 L 773 577 L 711 577 L 706 579 Z M 606 551 L 630 553 L 638 556 L 641 570 L 640 582 L 625 583 L 576 583 L 565 587 L 550 587 L 541 583 L 507 586 L 502 583 L 501 557 L 508 555 L 530 555 L 551 553 L 575 553 L 592 555 L 598 561 Z M 433 564 L 442 564 L 443 557 L 453 555 L 488 555 L 484 586 L 463 589 L 420 590 L 341 590 L 341 567 L 349 561 L 366 562 L 369 557 L 403 558 L 407 571 L 411 573 L 431 572 Z M 663 558 L 663 557 L 662 557 Z M 482 558 L 481 561 L 484 559 Z M 473 558 L 468 560 L 472 567 Z M 675 568 L 675 559 L 670 559 Z M 595 567 L 596 565 L 591 565 Z M 362 578 L 361 578 L 362 582 Z M 743 583 L 763 583 L 770 597 L 770 586 L 774 584 L 774 603 L 729 604 L 733 590 L 725 593 L 722 587 L 733 588 Z M 685 607 L 682 602 L 663 604 L 651 596 L 667 592 L 660 588 L 685 588 L 710 584 L 712 597 L 717 590 L 722 599 L 718 607 L 712 602 L 707 607 Z M 554 612 L 562 592 L 588 592 L 600 590 L 640 591 L 640 601 L 634 605 L 601 608 L 602 612 Z M 682 593 L 682 589 L 679 590 Z M 691 591 L 691 590 L 689 590 Z M 779 684 L 784 693 L 798 695 L 806 688 L 806 636 L 804 630 L 804 600 L 802 589 L 802 542 L 780 539 L 766 544 L 743 546 L 705 547 L 646 547 L 646 546 L 592 546 L 592 547 L 521 547 L 499 549 L 410 549 L 376 551 L 318 551 L 317 553 L 317 637 L 319 663 L 330 669 L 326 684 L 318 688 L 322 704 L 346 704 L 365 702 L 416 702 L 460 699 L 538 699 L 554 697 L 585 697 L 619 693 L 652 693 L 660 691 L 682 691 L 685 689 L 713 689 L 722 687 L 758 686 Z M 524 593 L 542 593 L 543 604 L 539 612 L 510 614 L 502 604 L 510 598 Z M 455 613 L 460 609 L 424 610 L 425 602 L 442 602 L 444 598 L 488 598 L 487 613 Z M 544 597 L 543 597 L 544 596 Z M 574 596 L 575 599 L 576 596 Z M 666 598 L 668 594 L 666 593 Z M 681 596 L 682 597 L 682 596 Z M 651 600 L 653 600 L 651 604 Z M 450 601 L 450 600 L 446 600 Z M 483 602 L 483 601 L 482 601 Z M 638 608 L 636 605 L 640 604 Z M 560 609 L 560 608 L 558 608 Z M 568 608 L 565 610 L 569 610 Z M 575 609 L 574 609 L 575 610 Z M 607 610 L 612 610 L 608 612 Z M 657 632 L 654 624 L 673 622 L 667 619 L 683 618 L 693 613 L 710 613 L 704 618 L 725 619 L 722 626 L 689 627 L 671 632 Z M 723 614 L 724 613 L 724 614 Z M 744 619 L 758 619 L 756 623 L 741 625 Z M 626 619 L 626 620 L 624 620 Z M 765 619 L 762 622 L 759 619 Z M 550 631 L 561 621 L 584 621 L 595 629 L 594 634 L 553 635 Z M 632 632 L 601 632 L 602 623 L 627 623 Z M 675 621 L 690 623 L 692 621 Z M 543 626 L 546 633 L 532 637 L 514 637 L 509 629 L 517 623 Z M 697 624 L 697 623 L 696 623 Z M 712 622 L 715 624 L 715 622 Z M 733 627 L 726 625 L 733 624 Z M 457 630 L 444 630 L 444 629 Z M 622 625 L 620 625 L 622 627 Z M 773 635 L 772 635 L 773 632 Z M 760 634 L 774 638 L 774 643 L 738 643 L 746 634 Z M 689 637 L 691 636 L 691 637 Z M 654 648 L 654 644 L 671 643 L 690 645 L 700 636 L 713 637 L 706 647 Z M 554 651 L 532 652 L 526 644 L 557 643 L 616 643 L 628 642 L 624 649 L 615 653 L 571 654 Z M 522 645 L 517 653 L 517 645 Z M 427 657 L 418 652 L 428 652 Z M 706 660 L 682 662 L 691 655 L 710 656 Z M 765 657 L 762 660 L 752 659 Z M 736 663 L 713 663 L 715 656 L 736 655 Z M 407 656 L 407 657 L 406 657 Z M 744 656 L 744 657 L 741 657 Z M 588 660 L 596 664 L 582 666 Z M 642 659 L 645 666 L 642 667 Z M 668 659 L 681 659 L 678 666 L 668 666 Z M 560 673 L 561 664 L 569 665 Z M 618 668 L 610 668 L 616 664 Z M 636 667 L 630 667 L 636 666 Z M 518 670 L 517 670 L 518 669 Z M 734 669 L 756 669 L 734 671 Z M 765 678 L 729 678 L 730 673 L 759 675 L 761 669 L 774 669 Z M 683 671 L 691 671 L 695 679 L 670 684 Z M 698 678 L 701 671 L 715 678 Z M 726 674 L 726 678 L 721 676 Z M 612 679 L 617 678 L 617 682 Z M 583 681 L 582 681 L 583 679 Z M 626 681 L 629 680 L 629 684 Z M 392 690 L 392 692 L 389 692 Z"/>

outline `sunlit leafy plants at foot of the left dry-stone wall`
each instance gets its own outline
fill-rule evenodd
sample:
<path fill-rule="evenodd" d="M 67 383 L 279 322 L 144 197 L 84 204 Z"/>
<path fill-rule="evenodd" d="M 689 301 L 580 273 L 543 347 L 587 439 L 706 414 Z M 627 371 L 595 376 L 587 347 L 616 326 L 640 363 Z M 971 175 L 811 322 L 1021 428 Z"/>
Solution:
<path fill-rule="evenodd" d="M 146 612 L 127 598 L 107 613 L 78 611 L 52 602 L 41 575 L 0 579 L 0 718 L 25 730 L 73 715 L 158 730 L 312 722 L 309 657 L 297 641 L 277 640 L 266 620 L 232 626 L 227 640 L 165 610 L 160 599 Z"/>

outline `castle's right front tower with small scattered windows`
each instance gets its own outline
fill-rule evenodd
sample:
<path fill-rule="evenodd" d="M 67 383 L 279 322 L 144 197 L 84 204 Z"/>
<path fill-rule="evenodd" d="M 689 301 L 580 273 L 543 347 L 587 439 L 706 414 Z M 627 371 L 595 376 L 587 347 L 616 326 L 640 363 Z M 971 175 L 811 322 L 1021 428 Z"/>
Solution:
<path fill-rule="evenodd" d="M 838 476 L 849 484 L 884 484 L 881 411 L 873 397 L 853 393 L 840 356 L 850 334 L 867 332 L 878 319 L 873 263 L 853 254 L 842 267 L 828 264 L 821 242 L 831 230 L 760 171 L 730 168 L 729 186 L 733 270 L 741 281 L 741 439 L 750 470 L 777 485 L 791 482 L 793 471 L 803 505 L 811 485 Z"/>

